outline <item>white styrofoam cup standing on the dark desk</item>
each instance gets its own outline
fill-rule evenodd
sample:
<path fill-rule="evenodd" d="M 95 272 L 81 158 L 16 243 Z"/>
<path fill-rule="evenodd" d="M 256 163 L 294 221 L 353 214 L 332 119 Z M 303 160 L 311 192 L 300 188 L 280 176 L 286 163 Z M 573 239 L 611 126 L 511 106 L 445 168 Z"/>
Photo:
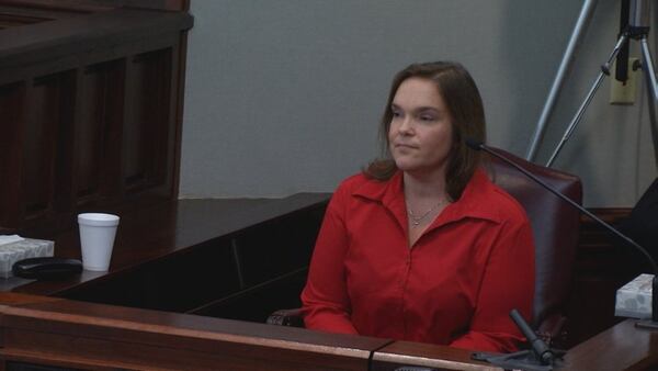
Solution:
<path fill-rule="evenodd" d="M 78 225 L 80 226 L 82 268 L 94 271 L 109 270 L 118 216 L 103 213 L 79 214 Z"/>

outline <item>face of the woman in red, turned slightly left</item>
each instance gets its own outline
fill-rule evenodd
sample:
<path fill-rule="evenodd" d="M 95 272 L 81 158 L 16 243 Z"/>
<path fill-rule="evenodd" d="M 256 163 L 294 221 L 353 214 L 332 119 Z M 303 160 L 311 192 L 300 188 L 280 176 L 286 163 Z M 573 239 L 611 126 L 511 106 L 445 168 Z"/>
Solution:
<path fill-rule="evenodd" d="M 412 77 L 399 86 L 390 106 L 390 154 L 410 173 L 445 175 L 453 146 L 453 123 L 434 82 Z"/>

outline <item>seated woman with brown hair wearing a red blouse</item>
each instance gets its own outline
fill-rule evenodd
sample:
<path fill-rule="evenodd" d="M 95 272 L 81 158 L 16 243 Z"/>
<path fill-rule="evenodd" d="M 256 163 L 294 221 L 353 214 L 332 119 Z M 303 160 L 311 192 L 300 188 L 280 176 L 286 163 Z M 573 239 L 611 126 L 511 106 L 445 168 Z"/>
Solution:
<path fill-rule="evenodd" d="M 306 327 L 515 350 L 509 312 L 531 316 L 532 231 L 465 145 L 485 140 L 470 75 L 454 63 L 407 67 L 381 127 L 386 156 L 327 209 L 302 293 Z"/>

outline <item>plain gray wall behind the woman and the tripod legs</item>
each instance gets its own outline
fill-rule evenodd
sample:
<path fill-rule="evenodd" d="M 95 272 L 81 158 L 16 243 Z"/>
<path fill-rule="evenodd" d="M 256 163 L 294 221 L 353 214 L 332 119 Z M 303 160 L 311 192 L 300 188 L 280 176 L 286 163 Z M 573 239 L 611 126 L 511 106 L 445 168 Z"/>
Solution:
<path fill-rule="evenodd" d="M 540 162 L 614 45 L 619 2 L 599 1 Z M 488 142 L 525 157 L 580 7 L 574 0 L 194 0 L 180 196 L 332 191 L 377 156 L 390 78 L 413 61 L 463 63 L 485 100 Z M 555 167 L 583 179 L 587 205 L 631 206 L 656 177 L 648 114 L 645 103 L 608 104 L 609 90 L 605 81 Z"/>

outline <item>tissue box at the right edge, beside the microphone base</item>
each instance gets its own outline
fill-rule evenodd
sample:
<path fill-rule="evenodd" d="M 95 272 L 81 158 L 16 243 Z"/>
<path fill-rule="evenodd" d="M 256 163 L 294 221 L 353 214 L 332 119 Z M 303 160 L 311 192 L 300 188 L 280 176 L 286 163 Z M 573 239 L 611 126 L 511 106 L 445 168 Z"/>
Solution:
<path fill-rule="evenodd" d="M 639 274 L 616 292 L 614 315 L 646 319 L 651 317 L 651 281 L 654 274 Z"/>

